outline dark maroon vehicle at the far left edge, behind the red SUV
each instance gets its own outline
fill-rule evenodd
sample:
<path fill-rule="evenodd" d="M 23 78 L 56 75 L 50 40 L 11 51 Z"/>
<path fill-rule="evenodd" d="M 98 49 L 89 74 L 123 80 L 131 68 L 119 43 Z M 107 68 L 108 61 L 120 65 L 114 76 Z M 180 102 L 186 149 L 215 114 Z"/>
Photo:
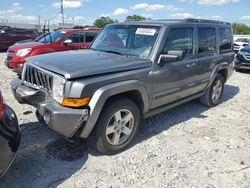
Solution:
<path fill-rule="evenodd" d="M 14 43 L 26 40 L 35 39 L 39 36 L 37 29 L 22 29 L 12 27 L 2 27 L 0 29 L 0 50 L 7 50 Z"/>

